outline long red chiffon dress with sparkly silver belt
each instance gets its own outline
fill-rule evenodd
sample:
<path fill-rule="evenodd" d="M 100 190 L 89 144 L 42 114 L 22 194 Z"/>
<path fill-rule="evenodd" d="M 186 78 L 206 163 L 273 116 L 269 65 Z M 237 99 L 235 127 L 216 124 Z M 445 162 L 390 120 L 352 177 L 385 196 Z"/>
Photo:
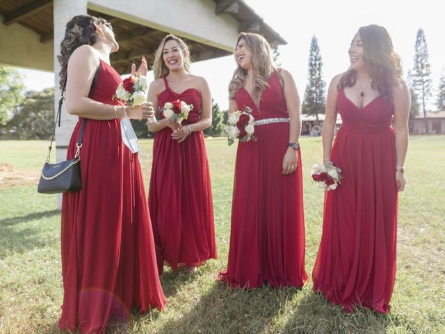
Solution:
<path fill-rule="evenodd" d="M 257 141 L 239 142 L 236 152 L 229 259 L 219 276 L 233 288 L 265 282 L 302 287 L 307 281 L 301 155 L 298 150 L 296 171 L 283 175 L 289 113 L 280 74 L 268 84 L 259 109 L 244 88 L 236 93 L 238 110 L 252 109 Z"/>

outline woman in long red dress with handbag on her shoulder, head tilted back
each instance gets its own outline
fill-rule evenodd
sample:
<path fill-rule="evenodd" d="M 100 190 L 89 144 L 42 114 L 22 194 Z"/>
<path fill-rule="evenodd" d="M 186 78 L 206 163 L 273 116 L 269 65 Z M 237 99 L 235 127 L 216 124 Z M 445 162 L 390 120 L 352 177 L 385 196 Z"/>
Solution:
<path fill-rule="evenodd" d="M 63 194 L 59 326 L 103 333 L 111 316 L 128 318 L 133 307 L 146 311 L 165 305 L 138 154 L 124 145 L 120 128 L 125 115 L 148 118 L 154 109 L 149 103 L 126 108 L 113 100 L 122 80 L 109 65 L 110 53 L 118 51 L 109 22 L 74 17 L 60 47 L 60 88 L 66 80 L 67 111 L 79 116 L 67 159 L 74 157 L 82 120 L 87 121 L 80 150 L 82 189 Z M 97 84 L 88 97 L 97 67 Z"/>

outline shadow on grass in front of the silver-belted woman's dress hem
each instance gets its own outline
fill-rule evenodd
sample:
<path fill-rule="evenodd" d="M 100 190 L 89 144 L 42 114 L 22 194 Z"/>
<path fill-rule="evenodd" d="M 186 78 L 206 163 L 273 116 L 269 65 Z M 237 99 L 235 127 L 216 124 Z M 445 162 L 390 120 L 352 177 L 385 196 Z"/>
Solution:
<path fill-rule="evenodd" d="M 215 281 L 190 312 L 171 319 L 157 333 L 270 333 L 273 319 L 299 292 L 294 287 L 232 290 Z"/>

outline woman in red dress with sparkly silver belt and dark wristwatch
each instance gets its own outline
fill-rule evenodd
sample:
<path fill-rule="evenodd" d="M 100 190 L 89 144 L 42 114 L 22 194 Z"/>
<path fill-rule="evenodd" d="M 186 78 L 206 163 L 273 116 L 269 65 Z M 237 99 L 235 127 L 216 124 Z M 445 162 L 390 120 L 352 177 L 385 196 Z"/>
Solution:
<path fill-rule="evenodd" d="M 227 269 L 231 287 L 302 287 L 305 218 L 298 145 L 300 100 L 291 74 L 273 67 L 268 42 L 241 33 L 229 84 L 229 113 L 252 109 L 257 141 L 239 142 Z"/>

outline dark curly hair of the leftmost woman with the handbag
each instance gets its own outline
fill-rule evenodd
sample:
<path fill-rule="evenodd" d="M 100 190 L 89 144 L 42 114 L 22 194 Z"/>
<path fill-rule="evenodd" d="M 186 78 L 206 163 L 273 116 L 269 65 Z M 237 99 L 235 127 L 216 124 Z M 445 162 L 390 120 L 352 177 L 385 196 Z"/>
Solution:
<path fill-rule="evenodd" d="M 74 50 L 81 45 L 93 45 L 97 41 L 94 22 L 99 24 L 106 22 L 106 20 L 102 19 L 102 17 L 91 15 L 77 15 L 67 23 L 65 37 L 60 42 L 60 54 L 57 56 L 60 63 L 60 89 L 63 89 L 63 84 L 67 77 L 68 59 L 70 59 Z"/>

